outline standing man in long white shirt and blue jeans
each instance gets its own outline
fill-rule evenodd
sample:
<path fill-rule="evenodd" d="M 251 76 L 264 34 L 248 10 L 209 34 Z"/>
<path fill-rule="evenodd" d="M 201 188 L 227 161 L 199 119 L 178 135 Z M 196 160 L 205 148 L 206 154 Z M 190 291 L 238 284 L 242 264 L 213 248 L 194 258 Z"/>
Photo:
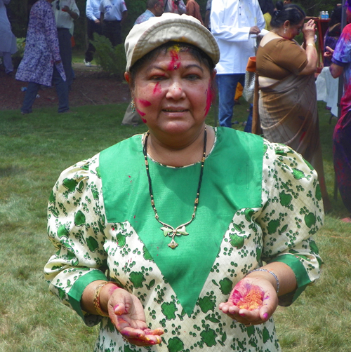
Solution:
<path fill-rule="evenodd" d="M 256 35 L 265 28 L 258 0 L 216 0 L 211 8 L 211 32 L 220 48 L 216 65 L 220 126 L 232 127 L 237 83 L 245 84 L 246 64 L 255 55 Z"/>

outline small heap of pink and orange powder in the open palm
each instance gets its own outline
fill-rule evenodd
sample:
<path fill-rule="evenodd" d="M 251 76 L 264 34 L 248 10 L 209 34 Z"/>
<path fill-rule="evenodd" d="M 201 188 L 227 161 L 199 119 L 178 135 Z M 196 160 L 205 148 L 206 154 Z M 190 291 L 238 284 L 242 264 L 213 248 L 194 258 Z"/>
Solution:
<path fill-rule="evenodd" d="M 230 301 L 240 309 L 253 311 L 263 306 L 263 295 L 264 292 L 260 287 L 249 283 L 242 283 L 233 291 Z"/>

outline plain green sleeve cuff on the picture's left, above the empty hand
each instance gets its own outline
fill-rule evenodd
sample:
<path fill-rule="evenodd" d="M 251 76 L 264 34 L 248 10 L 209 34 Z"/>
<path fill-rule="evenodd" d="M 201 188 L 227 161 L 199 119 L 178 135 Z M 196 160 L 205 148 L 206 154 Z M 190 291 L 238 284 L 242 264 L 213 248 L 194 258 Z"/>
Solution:
<path fill-rule="evenodd" d="M 76 280 L 73 284 L 71 290 L 68 292 L 68 300 L 69 304 L 71 304 L 74 311 L 76 311 L 79 316 L 84 320 L 84 314 L 81 310 L 81 296 L 83 295 L 83 291 L 89 283 L 92 283 L 96 280 L 107 280 L 106 276 L 100 270 L 91 270 L 85 275 L 81 276 Z"/>

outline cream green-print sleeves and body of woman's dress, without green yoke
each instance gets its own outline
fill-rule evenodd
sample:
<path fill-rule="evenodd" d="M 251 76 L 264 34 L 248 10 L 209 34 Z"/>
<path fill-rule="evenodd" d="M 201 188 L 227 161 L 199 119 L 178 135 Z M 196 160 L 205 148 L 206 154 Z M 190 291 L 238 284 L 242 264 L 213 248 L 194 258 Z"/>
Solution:
<path fill-rule="evenodd" d="M 107 222 L 99 154 L 62 172 L 48 206 L 48 236 L 57 252 L 45 276 L 51 292 L 86 324 L 101 322 L 95 351 L 144 351 L 125 343 L 109 318 L 80 309 L 84 287 L 104 279 L 107 269 L 109 279 L 140 299 L 150 328 L 164 328 L 162 343 L 148 351 L 281 351 L 272 319 L 245 327 L 218 310 L 261 260 L 291 266 L 298 280 L 295 298 L 319 278 L 321 259 L 311 238 L 324 214 L 317 174 L 289 147 L 267 141 L 264 146 L 262 204 L 235 212 L 190 316 L 131 224 Z"/>

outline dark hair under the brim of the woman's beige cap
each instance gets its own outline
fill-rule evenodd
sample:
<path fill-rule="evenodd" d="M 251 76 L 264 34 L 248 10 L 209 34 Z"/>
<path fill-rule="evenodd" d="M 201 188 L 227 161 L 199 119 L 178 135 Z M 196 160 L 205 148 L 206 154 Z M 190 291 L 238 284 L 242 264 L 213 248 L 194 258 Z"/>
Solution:
<path fill-rule="evenodd" d="M 131 69 L 129 71 L 131 73 L 131 86 L 132 86 L 132 88 L 134 88 L 135 76 L 138 73 L 138 71 L 140 69 L 142 69 L 145 65 L 150 64 L 150 62 L 152 62 L 152 60 L 156 60 L 160 54 L 166 54 L 167 50 L 169 48 L 171 48 L 172 46 L 177 46 L 180 53 L 182 53 L 182 52 L 184 53 L 185 51 L 187 53 L 190 53 L 190 55 L 192 55 L 195 60 L 197 60 L 201 64 L 204 64 L 208 68 L 208 71 L 210 73 L 213 72 L 215 65 L 213 64 L 211 57 L 209 57 L 201 49 L 197 48 L 197 46 L 194 46 L 190 43 L 181 43 L 178 41 L 168 41 L 167 43 L 164 43 L 161 46 L 158 46 L 154 50 L 151 50 L 150 53 L 145 54 L 137 62 L 135 62 L 135 64 L 131 67 Z"/>

